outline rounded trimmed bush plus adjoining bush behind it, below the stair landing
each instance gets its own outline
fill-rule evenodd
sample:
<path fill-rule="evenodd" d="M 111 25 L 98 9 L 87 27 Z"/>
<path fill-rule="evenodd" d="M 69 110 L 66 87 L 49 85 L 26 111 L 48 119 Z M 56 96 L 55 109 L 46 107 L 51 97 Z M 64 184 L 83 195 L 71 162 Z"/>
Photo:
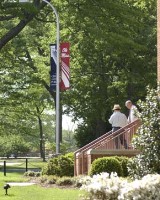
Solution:
<path fill-rule="evenodd" d="M 100 174 L 101 172 L 107 172 L 111 174 L 111 172 L 116 172 L 118 176 L 127 177 L 128 158 L 121 156 L 113 156 L 113 157 L 103 157 L 98 158 L 93 161 L 89 175 Z"/>

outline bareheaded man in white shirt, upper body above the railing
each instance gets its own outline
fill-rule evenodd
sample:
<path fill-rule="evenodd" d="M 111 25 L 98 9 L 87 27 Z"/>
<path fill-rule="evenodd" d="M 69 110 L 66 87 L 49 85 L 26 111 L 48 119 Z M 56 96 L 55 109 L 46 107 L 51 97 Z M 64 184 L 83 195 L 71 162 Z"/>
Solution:
<path fill-rule="evenodd" d="M 126 101 L 125 106 L 129 109 L 129 116 L 128 116 L 128 122 L 134 122 L 138 119 L 136 116 L 136 112 L 138 112 L 137 107 L 132 104 L 131 100 Z"/>

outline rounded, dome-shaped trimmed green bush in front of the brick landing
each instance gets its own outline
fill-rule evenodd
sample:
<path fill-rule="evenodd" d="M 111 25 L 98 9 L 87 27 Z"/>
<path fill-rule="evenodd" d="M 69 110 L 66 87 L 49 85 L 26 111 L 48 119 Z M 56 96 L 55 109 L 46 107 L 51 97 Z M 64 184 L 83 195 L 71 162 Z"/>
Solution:
<path fill-rule="evenodd" d="M 101 172 L 116 172 L 118 176 L 123 176 L 121 163 L 114 157 L 103 157 L 93 161 L 89 175 L 100 174 Z"/>

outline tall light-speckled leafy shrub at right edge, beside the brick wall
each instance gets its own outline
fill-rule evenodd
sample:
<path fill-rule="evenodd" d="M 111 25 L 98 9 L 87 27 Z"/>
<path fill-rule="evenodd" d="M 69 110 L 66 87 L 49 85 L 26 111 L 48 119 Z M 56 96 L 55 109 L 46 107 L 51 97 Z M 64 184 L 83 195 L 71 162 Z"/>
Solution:
<path fill-rule="evenodd" d="M 140 178 L 149 173 L 160 174 L 160 88 L 149 89 L 145 101 L 139 101 L 142 125 L 133 139 L 133 146 L 141 153 L 130 160 L 129 174 Z"/>

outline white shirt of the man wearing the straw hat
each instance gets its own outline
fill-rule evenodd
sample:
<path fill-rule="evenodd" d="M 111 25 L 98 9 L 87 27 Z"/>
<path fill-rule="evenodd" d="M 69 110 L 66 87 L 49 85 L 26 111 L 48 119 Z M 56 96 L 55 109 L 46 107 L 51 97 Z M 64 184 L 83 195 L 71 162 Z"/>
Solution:
<path fill-rule="evenodd" d="M 128 124 L 126 115 L 120 111 L 114 111 L 108 121 L 112 127 L 124 127 Z"/>

